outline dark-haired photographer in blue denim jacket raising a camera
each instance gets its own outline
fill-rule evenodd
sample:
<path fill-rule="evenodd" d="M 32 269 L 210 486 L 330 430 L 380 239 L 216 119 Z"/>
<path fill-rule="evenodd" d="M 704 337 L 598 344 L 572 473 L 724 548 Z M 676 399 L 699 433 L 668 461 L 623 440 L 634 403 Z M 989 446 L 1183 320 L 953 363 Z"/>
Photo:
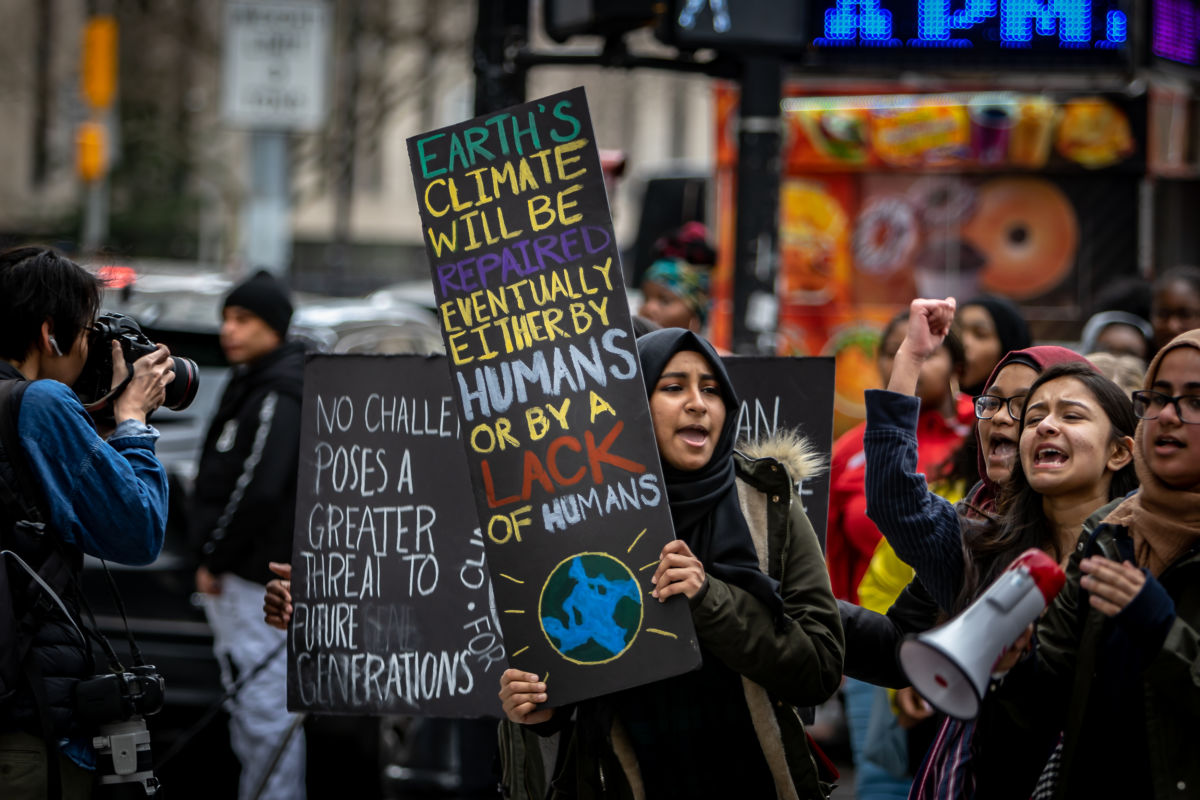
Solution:
<path fill-rule="evenodd" d="M 166 529 L 167 476 L 146 415 L 174 379 L 167 348 L 133 363 L 107 441 L 70 389 L 88 359 L 100 290 L 95 276 L 52 249 L 0 253 L 0 485 L 13 492 L 0 493 L 6 799 L 90 795 L 94 732 L 74 708 L 76 685 L 97 672 L 80 633 L 83 554 L 149 564 Z M 112 348 L 116 386 L 128 371 L 120 344 Z"/>

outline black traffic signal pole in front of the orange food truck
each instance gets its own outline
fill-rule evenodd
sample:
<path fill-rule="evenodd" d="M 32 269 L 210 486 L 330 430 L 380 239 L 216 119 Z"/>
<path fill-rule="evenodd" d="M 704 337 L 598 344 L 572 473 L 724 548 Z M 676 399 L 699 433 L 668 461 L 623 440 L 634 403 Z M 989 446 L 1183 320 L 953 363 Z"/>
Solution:
<path fill-rule="evenodd" d="M 775 351 L 782 83 L 779 59 L 746 56 L 738 122 L 733 258 L 733 351 L 738 354 Z"/>

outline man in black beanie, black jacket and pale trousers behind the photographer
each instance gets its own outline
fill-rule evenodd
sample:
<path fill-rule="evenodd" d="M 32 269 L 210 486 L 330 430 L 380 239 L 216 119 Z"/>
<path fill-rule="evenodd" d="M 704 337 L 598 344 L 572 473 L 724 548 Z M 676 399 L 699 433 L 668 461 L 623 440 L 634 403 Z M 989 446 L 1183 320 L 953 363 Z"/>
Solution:
<path fill-rule="evenodd" d="M 284 341 L 290 320 L 287 293 L 268 272 L 226 297 L 221 347 L 234 371 L 204 440 L 190 525 L 200 542 L 196 588 L 206 599 L 226 688 L 269 661 L 232 705 L 239 795 L 254 794 L 292 732 L 259 796 L 294 800 L 305 796 L 305 744 L 287 712 L 286 634 L 259 622 L 268 564 L 292 558 L 304 348 Z"/>

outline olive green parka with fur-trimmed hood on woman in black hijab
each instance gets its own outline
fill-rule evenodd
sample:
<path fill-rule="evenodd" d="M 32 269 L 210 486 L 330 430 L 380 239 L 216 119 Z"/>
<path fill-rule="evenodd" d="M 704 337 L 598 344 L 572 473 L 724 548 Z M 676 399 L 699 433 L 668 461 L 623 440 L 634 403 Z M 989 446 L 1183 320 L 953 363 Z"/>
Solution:
<path fill-rule="evenodd" d="M 800 437 L 776 434 L 744 446 L 734 461 L 760 569 L 779 581 L 785 615 L 772 619 L 748 593 L 708 576 L 690 601 L 692 621 L 704 649 L 743 676 L 778 796 L 821 800 L 833 787 L 818 771 L 797 709 L 823 703 L 838 690 L 845 639 L 824 555 L 794 488 L 816 474 L 821 459 Z M 577 704 L 572 715 L 572 709 L 558 711 L 557 721 L 535 729 L 500 723 L 506 796 L 644 798 L 634 750 L 604 698 Z"/>

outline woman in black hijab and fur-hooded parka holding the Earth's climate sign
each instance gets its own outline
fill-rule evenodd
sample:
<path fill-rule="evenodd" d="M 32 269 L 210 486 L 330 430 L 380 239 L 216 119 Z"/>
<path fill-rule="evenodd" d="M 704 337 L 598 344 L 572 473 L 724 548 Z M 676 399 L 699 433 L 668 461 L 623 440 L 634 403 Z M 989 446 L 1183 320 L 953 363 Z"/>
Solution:
<path fill-rule="evenodd" d="M 637 344 L 679 537 L 662 548 L 653 595 L 688 599 L 703 666 L 574 709 L 539 708 L 546 685 L 506 670 L 500 699 L 520 723 L 510 727 L 566 736 L 548 795 L 528 772 L 509 788 L 552 798 L 827 796 L 796 711 L 836 691 L 844 650 L 793 483 L 812 474 L 814 458 L 796 435 L 734 451 L 737 396 L 701 337 L 664 329 Z"/>

